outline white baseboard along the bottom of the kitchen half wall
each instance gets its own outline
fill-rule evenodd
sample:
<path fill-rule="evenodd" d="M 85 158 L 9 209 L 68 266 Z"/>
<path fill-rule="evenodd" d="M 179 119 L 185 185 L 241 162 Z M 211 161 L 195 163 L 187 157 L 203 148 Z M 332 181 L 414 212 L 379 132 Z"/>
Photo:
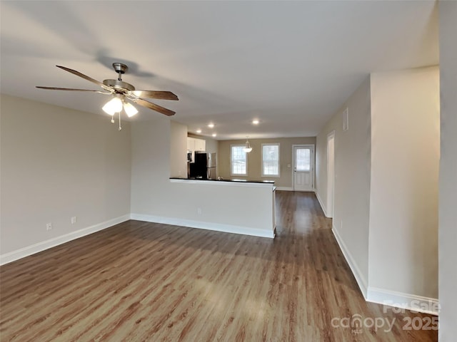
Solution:
<path fill-rule="evenodd" d="M 145 222 L 172 224 L 174 226 L 182 226 L 182 227 L 189 227 L 189 228 L 214 230 L 216 232 L 251 235 L 253 237 L 269 237 L 270 239 L 274 238 L 273 227 L 271 228 L 271 232 L 269 232 L 267 230 L 243 227 L 243 226 L 234 226 L 232 224 L 209 223 L 209 222 L 194 221 L 191 219 L 176 219 L 174 217 L 161 217 L 161 216 L 145 215 L 145 214 L 131 214 L 131 219 L 136 219 L 138 221 L 145 221 Z"/>

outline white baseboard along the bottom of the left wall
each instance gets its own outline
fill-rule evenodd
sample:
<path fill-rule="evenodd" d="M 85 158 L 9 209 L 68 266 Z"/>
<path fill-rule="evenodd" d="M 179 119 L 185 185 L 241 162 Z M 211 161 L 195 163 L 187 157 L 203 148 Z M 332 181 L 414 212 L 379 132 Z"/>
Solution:
<path fill-rule="evenodd" d="M 101 222 L 99 224 L 94 224 L 91 227 L 86 227 L 83 229 L 79 229 L 76 232 L 71 232 L 68 234 L 61 235 L 60 237 L 54 237 L 52 239 L 38 242 L 37 244 L 32 244 L 31 246 L 27 246 L 21 249 L 16 249 L 16 251 L 1 254 L 0 255 L 0 265 L 8 264 L 12 261 L 28 257 L 31 254 L 35 254 L 38 252 L 42 252 L 45 249 L 49 249 L 51 247 L 56 247 L 59 244 L 64 244 L 65 242 L 69 242 L 74 239 L 78 239 L 79 237 L 84 237 L 86 235 L 99 232 L 100 230 L 109 228 L 114 226 L 114 224 L 119 224 L 130 219 L 130 214 L 125 214 L 120 217 L 116 217 L 114 219 L 109 219 L 108 221 Z"/>

